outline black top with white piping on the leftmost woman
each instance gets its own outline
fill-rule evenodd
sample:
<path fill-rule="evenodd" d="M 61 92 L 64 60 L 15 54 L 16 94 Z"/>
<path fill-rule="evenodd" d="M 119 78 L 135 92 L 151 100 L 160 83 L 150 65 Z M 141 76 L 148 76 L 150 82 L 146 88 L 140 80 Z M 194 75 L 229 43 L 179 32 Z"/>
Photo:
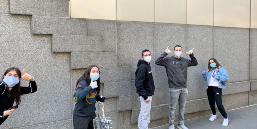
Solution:
<path fill-rule="evenodd" d="M 14 98 L 8 97 L 8 87 L 5 83 L 0 82 L 0 116 L 3 116 L 3 112 L 13 106 Z M 29 81 L 28 87 L 20 87 L 21 95 L 34 93 L 37 91 L 37 84 L 35 81 Z M 0 125 L 7 119 L 8 116 L 0 117 Z"/>

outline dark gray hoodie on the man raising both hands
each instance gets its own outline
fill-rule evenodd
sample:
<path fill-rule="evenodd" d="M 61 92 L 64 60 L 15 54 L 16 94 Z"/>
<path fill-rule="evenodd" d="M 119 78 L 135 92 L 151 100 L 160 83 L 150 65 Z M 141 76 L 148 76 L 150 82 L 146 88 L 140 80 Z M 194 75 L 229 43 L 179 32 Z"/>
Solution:
<path fill-rule="evenodd" d="M 189 55 L 191 60 L 183 57 L 178 59 L 175 56 L 166 57 L 167 55 L 166 52 L 161 54 L 155 61 L 155 64 L 165 66 L 169 88 L 186 88 L 187 67 L 198 64 L 194 54 Z"/>

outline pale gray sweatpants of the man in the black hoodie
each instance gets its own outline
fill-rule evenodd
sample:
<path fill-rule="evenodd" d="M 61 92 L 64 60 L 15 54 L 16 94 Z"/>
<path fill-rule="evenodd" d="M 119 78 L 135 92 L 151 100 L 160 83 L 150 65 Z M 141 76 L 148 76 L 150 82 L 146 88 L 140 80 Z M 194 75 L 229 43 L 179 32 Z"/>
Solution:
<path fill-rule="evenodd" d="M 148 97 L 150 99 L 150 102 L 147 103 L 142 96 L 139 96 L 141 108 L 138 116 L 138 129 L 148 129 L 148 124 L 150 123 L 152 96 Z"/>

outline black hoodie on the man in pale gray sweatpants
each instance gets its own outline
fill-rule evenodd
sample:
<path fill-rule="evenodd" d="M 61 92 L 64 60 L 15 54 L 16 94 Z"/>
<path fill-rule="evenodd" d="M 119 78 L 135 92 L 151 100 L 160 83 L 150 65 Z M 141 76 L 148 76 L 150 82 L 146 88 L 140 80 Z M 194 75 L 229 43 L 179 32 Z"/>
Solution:
<path fill-rule="evenodd" d="M 154 94 L 154 80 L 150 63 L 138 60 L 135 79 L 136 93 L 144 100 Z"/>

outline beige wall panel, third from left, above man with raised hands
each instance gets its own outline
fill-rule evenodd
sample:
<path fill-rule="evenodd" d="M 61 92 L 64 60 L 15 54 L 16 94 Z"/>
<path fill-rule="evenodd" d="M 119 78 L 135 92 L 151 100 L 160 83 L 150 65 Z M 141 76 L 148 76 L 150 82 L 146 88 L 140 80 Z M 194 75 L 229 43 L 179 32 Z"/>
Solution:
<path fill-rule="evenodd" d="M 186 24 L 186 0 L 155 0 L 155 22 Z"/>

